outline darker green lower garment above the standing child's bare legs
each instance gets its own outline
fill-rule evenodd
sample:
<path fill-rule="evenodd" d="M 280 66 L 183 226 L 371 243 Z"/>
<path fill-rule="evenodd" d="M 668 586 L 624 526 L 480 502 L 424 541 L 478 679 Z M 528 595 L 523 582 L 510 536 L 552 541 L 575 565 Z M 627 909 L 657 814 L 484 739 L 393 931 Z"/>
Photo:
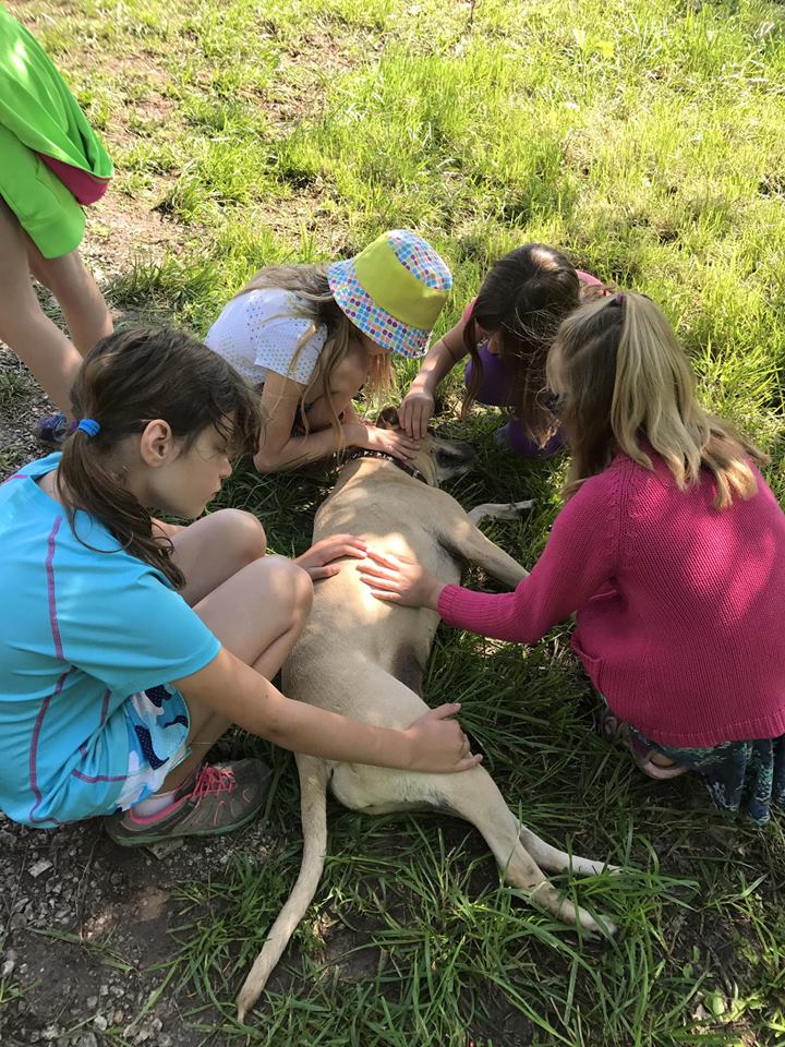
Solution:
<path fill-rule="evenodd" d="M 75 251 L 84 236 L 82 207 L 57 174 L 0 124 L 0 196 L 45 258 Z"/>

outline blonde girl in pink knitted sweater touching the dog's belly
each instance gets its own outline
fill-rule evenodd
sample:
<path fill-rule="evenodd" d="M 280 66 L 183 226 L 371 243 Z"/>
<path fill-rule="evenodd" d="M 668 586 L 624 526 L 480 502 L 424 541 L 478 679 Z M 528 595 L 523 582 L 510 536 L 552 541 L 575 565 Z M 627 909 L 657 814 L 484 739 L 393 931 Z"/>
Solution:
<path fill-rule="evenodd" d="M 567 503 L 515 592 L 445 586 L 375 553 L 381 600 L 534 643 L 570 614 L 572 646 L 653 778 L 701 773 L 716 805 L 785 805 L 785 515 L 762 455 L 695 396 L 660 309 L 620 293 L 577 310 L 548 354 L 572 450 Z"/>

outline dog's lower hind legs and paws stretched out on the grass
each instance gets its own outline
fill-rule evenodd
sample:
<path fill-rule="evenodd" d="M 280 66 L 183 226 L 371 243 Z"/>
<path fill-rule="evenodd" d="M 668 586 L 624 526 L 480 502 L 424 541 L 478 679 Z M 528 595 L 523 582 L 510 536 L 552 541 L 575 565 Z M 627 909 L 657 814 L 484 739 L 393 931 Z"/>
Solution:
<path fill-rule="evenodd" d="M 440 785 L 444 790 L 444 805 L 480 830 L 508 883 L 531 892 L 532 900 L 538 905 L 555 913 L 567 923 L 579 924 L 585 930 L 604 930 L 606 934 L 613 934 L 616 928 L 611 920 L 600 917 L 601 922 L 599 922 L 585 910 L 559 896 L 524 847 L 522 837 L 529 833 L 528 839 L 546 858 L 555 857 L 558 852 L 556 849 L 548 849 L 548 845 L 539 837 L 520 825 L 504 802 L 493 779 L 483 768 L 466 771 L 462 774 L 451 774 L 449 779 L 442 779 Z M 561 864 L 560 867 L 566 868 L 567 864 Z M 596 863 L 589 863 L 585 858 L 572 858 L 572 867 L 587 872 L 599 871 L 602 868 Z"/>

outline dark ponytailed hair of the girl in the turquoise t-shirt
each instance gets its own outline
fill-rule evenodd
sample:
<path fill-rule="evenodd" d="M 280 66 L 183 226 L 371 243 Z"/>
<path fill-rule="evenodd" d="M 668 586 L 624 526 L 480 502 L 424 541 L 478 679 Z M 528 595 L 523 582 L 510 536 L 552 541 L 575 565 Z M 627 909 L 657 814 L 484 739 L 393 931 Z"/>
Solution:
<path fill-rule="evenodd" d="M 125 437 L 160 418 L 183 442 L 183 450 L 213 425 L 228 437 L 232 454 L 254 454 L 258 397 L 226 360 L 190 335 L 173 328 L 136 328 L 109 335 L 87 354 L 71 404 L 74 418 L 92 418 L 100 425 L 95 436 L 80 429 L 73 432 L 58 471 L 74 535 L 78 539 L 75 509 L 84 509 L 124 550 L 182 588 L 185 579 L 171 561 L 171 542 L 153 535 L 150 514 L 123 485 L 113 453 Z"/>

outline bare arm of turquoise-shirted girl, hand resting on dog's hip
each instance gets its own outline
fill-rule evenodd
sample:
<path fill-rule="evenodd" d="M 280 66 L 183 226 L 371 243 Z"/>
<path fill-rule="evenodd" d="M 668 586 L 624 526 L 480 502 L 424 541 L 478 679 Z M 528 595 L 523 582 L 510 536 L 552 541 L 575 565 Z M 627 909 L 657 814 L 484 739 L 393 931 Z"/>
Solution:
<path fill-rule="evenodd" d="M 208 706 L 282 748 L 323 759 L 407 770 L 466 771 L 480 762 L 455 715 L 457 703 L 432 709 L 406 731 L 375 727 L 285 697 L 254 669 L 221 648 L 200 672 L 174 682 L 188 702 Z"/>

